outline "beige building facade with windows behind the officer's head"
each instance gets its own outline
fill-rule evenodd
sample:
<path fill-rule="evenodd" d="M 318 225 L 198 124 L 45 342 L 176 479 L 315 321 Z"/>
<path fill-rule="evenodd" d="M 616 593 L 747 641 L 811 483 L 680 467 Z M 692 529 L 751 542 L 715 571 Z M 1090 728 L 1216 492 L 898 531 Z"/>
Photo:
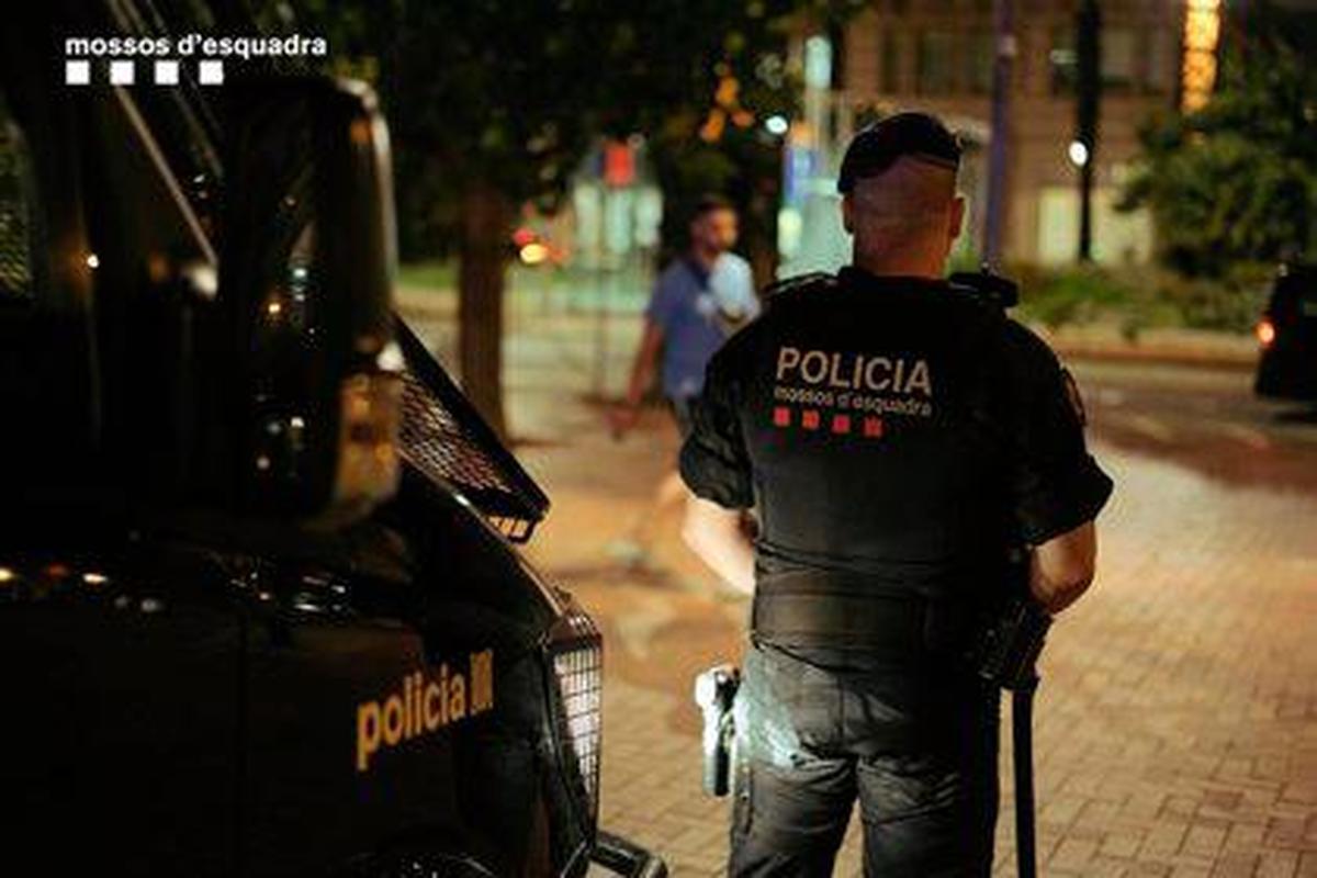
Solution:
<path fill-rule="evenodd" d="M 1143 262 L 1152 228 L 1114 209 L 1138 154 L 1138 129 L 1173 108 L 1183 0 L 1102 0 L 1102 103 L 1094 161 L 1093 257 Z M 1015 0 L 1005 254 L 1063 263 L 1079 242 L 1075 138 L 1077 0 Z M 982 234 L 994 62 L 992 0 L 873 0 L 834 47 L 832 97 L 842 142 L 868 112 L 925 109 L 965 140 L 963 190 L 971 240 Z"/>

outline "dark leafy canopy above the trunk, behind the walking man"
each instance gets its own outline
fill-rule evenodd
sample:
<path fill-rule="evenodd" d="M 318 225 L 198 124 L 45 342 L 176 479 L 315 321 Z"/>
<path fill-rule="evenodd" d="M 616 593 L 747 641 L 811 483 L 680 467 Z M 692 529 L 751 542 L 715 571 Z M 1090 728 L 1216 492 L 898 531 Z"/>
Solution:
<path fill-rule="evenodd" d="M 399 153 L 403 253 L 443 255 L 474 180 L 552 209 L 601 136 L 694 155 L 724 76 L 761 120 L 789 111 L 786 22 L 860 0 L 394 0 L 381 20 L 381 91 Z M 735 174 L 744 129 L 727 124 Z M 706 145 L 707 146 L 707 145 Z M 695 163 L 718 165 L 709 157 Z"/>

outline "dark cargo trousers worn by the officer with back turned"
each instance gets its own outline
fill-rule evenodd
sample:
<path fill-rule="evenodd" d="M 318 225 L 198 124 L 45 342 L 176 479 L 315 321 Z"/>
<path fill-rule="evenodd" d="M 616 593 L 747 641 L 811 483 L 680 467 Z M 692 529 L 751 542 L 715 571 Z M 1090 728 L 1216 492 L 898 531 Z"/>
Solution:
<path fill-rule="evenodd" d="M 831 875 L 856 799 L 867 877 L 990 874 L 996 686 L 956 666 L 759 645 L 735 717 L 731 875 Z"/>

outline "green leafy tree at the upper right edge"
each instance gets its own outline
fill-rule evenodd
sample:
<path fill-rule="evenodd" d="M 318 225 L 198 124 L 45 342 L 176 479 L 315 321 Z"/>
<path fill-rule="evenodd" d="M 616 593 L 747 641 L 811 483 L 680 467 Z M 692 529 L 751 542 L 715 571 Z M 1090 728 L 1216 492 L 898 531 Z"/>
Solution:
<path fill-rule="evenodd" d="M 1152 212 L 1163 258 L 1192 276 L 1317 254 L 1317 67 L 1303 28 L 1259 7 L 1237 26 L 1217 93 L 1141 134 L 1127 208 Z"/>

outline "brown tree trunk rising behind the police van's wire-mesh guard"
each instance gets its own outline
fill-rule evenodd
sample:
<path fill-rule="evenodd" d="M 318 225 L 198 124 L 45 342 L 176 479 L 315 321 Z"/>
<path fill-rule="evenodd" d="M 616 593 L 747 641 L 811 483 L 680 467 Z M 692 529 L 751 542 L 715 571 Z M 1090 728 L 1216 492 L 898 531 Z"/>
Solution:
<path fill-rule="evenodd" d="M 462 194 L 457 274 L 457 359 L 462 390 L 500 437 L 503 420 L 503 280 L 514 211 L 485 183 Z"/>

